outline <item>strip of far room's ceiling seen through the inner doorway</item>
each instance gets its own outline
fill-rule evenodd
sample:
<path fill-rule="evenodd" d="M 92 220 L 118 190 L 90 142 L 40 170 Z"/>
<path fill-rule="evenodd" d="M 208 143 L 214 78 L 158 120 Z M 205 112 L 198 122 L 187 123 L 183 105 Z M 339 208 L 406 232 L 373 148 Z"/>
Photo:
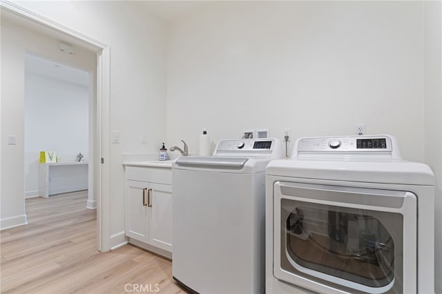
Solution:
<path fill-rule="evenodd" d="M 37 55 L 26 53 L 25 68 L 26 72 L 59 79 L 79 86 L 87 87 L 89 84 L 88 72 Z"/>

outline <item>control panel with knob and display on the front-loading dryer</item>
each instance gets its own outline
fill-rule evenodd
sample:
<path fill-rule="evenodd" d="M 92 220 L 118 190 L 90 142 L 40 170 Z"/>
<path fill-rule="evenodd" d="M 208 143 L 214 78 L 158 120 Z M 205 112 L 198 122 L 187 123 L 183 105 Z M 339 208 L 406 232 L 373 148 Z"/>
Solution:
<path fill-rule="evenodd" d="M 300 152 L 391 152 L 392 140 L 385 135 L 302 138 L 298 140 L 297 150 Z"/>

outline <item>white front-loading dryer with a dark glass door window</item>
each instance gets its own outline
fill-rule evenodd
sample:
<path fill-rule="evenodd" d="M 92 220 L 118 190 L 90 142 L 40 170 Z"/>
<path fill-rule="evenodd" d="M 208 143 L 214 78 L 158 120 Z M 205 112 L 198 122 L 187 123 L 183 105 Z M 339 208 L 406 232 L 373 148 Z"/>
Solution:
<path fill-rule="evenodd" d="M 267 293 L 434 293 L 434 175 L 394 137 L 299 139 L 266 186 Z"/>

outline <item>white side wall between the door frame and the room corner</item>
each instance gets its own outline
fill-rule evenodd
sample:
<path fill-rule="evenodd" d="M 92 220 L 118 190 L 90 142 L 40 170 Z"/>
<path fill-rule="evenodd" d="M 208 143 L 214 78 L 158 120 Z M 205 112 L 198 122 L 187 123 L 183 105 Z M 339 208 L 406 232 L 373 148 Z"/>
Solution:
<path fill-rule="evenodd" d="M 125 241 L 122 153 L 157 152 L 165 139 L 166 23 L 145 13 L 136 1 L 15 3 L 110 46 L 110 128 L 120 132 L 120 143 L 111 144 L 110 158 L 105 159 L 110 166 L 111 186 L 108 190 L 111 193 L 103 197 L 109 197 L 111 204 L 110 245 L 122 244 Z M 3 115 L 1 120 L 3 128 Z M 147 144 L 141 144 L 142 133 L 148 134 Z M 2 154 L 2 168 L 3 162 Z M 12 168 L 12 162 L 6 168 Z M 2 199 L 4 171 L 1 173 Z M 15 184 L 15 190 L 23 190 L 23 185 Z"/>

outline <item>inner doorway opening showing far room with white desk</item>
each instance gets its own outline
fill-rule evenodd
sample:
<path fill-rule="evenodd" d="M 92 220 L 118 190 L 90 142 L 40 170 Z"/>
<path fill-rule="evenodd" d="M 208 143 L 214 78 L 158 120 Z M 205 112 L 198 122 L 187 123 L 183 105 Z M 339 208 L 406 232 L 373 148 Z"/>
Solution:
<path fill-rule="evenodd" d="M 88 190 L 89 106 L 95 100 L 89 75 L 25 53 L 25 198 Z M 86 206 L 96 208 L 90 186 Z"/>

